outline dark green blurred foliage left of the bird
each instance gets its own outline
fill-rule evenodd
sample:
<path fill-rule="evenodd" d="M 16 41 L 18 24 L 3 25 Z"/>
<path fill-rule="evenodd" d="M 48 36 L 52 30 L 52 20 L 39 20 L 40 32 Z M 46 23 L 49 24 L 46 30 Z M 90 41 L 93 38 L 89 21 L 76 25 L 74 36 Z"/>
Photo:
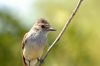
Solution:
<path fill-rule="evenodd" d="M 19 20 L 0 11 L 0 66 L 21 65 L 21 40 L 26 29 Z"/>

